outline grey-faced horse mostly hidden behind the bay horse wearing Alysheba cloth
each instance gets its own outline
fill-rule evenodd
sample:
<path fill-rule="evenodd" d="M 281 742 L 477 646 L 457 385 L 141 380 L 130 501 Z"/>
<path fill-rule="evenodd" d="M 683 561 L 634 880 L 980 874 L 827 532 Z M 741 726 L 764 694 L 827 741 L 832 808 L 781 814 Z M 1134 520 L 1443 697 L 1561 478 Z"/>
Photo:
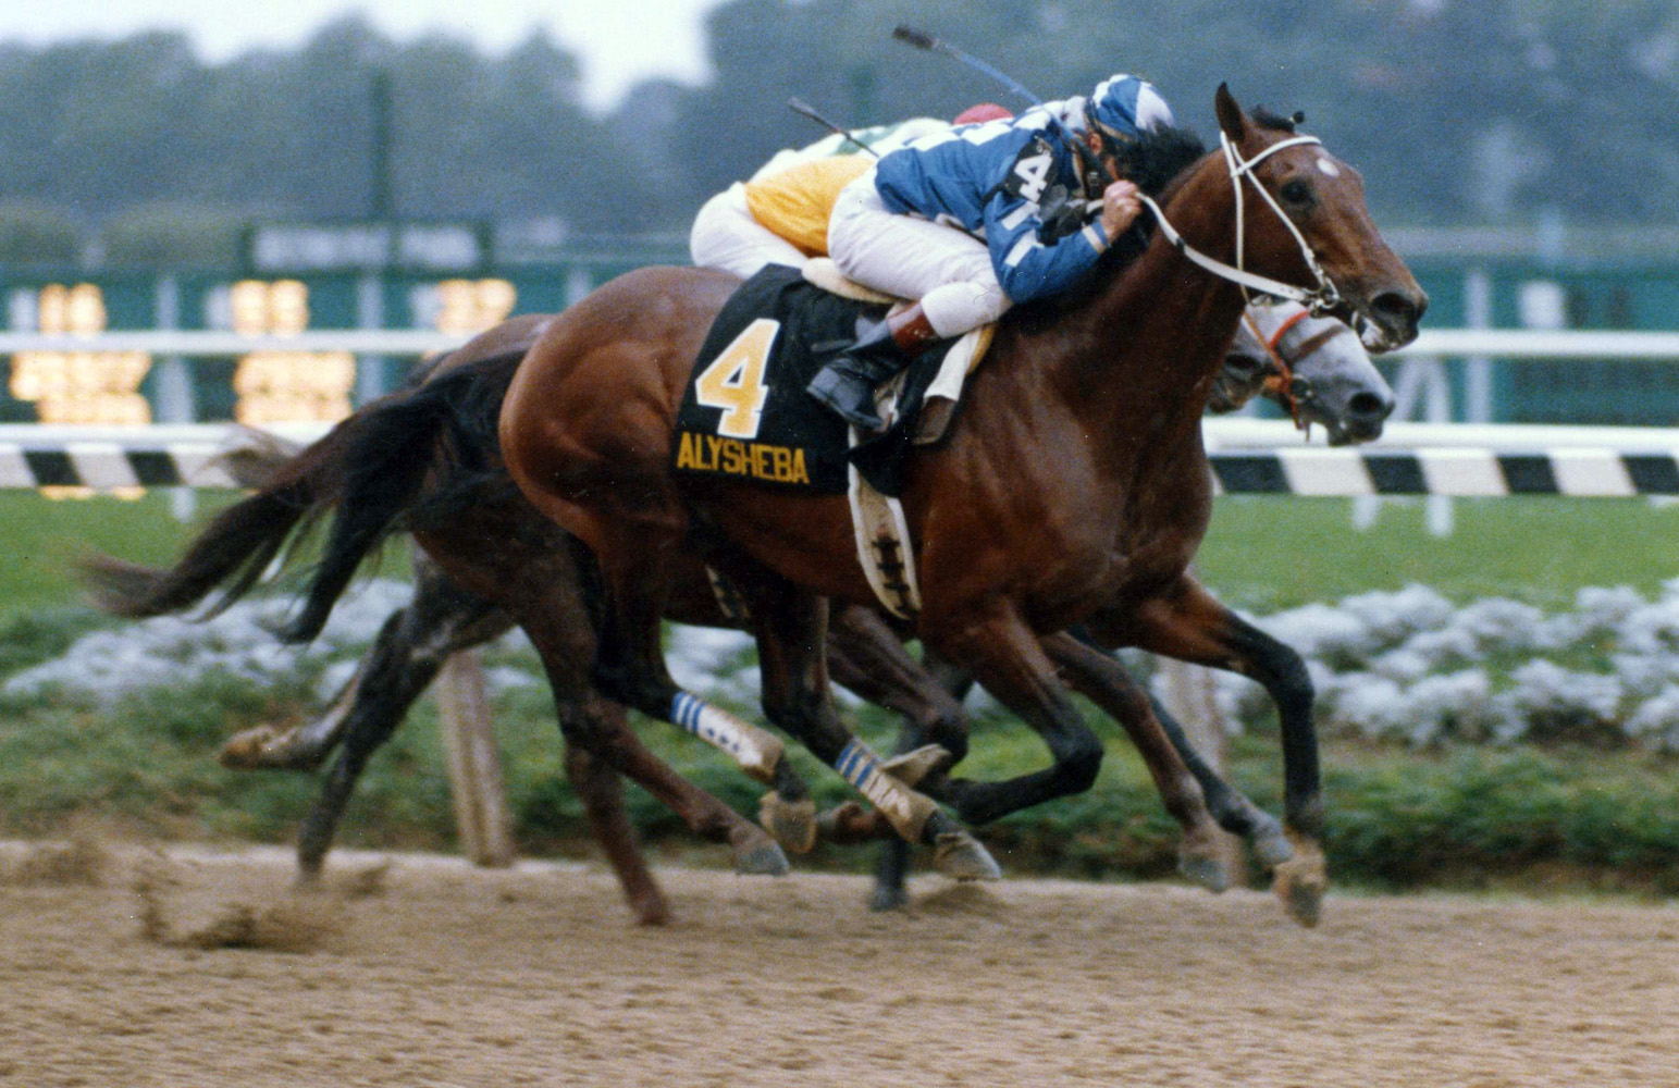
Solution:
<path fill-rule="evenodd" d="M 520 319 L 517 329 L 534 331 L 537 321 Z M 534 332 L 522 334 L 534 343 Z M 517 337 L 502 336 L 492 341 L 490 349 L 505 351 L 517 343 Z M 472 354 L 473 349 L 463 351 Z M 440 366 L 448 366 L 448 359 Z M 1331 445 L 1378 437 L 1394 405 L 1392 390 L 1372 366 L 1357 334 L 1331 317 L 1311 316 L 1298 302 L 1254 306 L 1244 312 L 1236 339 L 1226 351 L 1209 411 L 1239 410 L 1261 393 L 1291 408 L 1301 426 L 1323 426 Z M 302 448 L 301 443 L 252 432 L 222 460 L 242 487 L 262 489 L 282 475 Z M 578 594 L 581 599 L 581 588 Z M 722 613 L 717 623 L 739 626 L 739 620 Z M 327 707 L 311 720 L 284 730 L 259 725 L 228 739 L 222 749 L 222 764 L 227 767 L 312 771 L 332 757 L 297 838 L 299 875 L 306 881 L 319 878 L 368 759 L 396 732 L 410 707 L 437 678 L 443 662 L 452 653 L 480 646 L 512 628 L 514 620 L 505 609 L 467 593 L 423 551 L 415 551 L 411 601 L 381 626 L 354 675 Z M 858 667 L 853 658 L 871 656 L 866 648 L 860 648 L 858 640 L 871 638 L 871 631 L 848 615 L 841 616 L 836 631 L 840 638 L 834 633 L 829 638 L 829 670 L 843 687 L 903 715 L 898 752 L 915 751 L 930 739 L 949 742 L 950 737 L 965 735 L 965 725 L 952 725 L 964 717 L 954 688 L 965 688 L 965 677 L 955 677 L 949 670 L 915 672 L 878 655 L 873 655 L 873 668 Z M 1071 682 L 1098 705 L 1122 697 L 1122 688 L 1098 673 L 1078 673 Z M 1214 814 L 1234 808 L 1237 803 L 1219 796 L 1217 776 L 1195 757 L 1182 739 L 1182 729 L 1159 705 L 1153 710 L 1212 799 Z M 636 918 L 643 923 L 662 922 L 668 908 L 635 846 L 616 772 L 571 744 L 566 745 L 564 767 Z M 907 851 L 888 850 L 871 895 L 876 908 L 907 902 Z"/>

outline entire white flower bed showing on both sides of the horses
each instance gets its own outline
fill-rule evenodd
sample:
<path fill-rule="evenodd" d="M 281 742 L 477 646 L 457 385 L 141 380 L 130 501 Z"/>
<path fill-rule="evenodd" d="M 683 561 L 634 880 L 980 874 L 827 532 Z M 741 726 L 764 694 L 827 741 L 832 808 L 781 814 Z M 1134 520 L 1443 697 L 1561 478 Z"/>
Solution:
<path fill-rule="evenodd" d="M 307 648 L 284 646 L 270 633 L 292 608 L 285 599 L 245 601 L 203 623 L 121 625 L 13 675 L 3 692 L 79 693 L 109 705 L 227 673 L 255 683 L 314 677 L 326 697 L 408 593 L 396 581 L 361 584 Z M 1407 744 L 1634 740 L 1679 752 L 1679 579 L 1654 601 L 1627 588 L 1582 589 L 1573 609 L 1558 615 L 1499 598 L 1459 608 L 1409 586 L 1251 620 L 1306 658 L 1320 720 L 1331 729 Z M 517 633 L 504 641 L 519 645 Z M 749 650 L 739 631 L 675 628 L 672 675 L 697 693 L 751 705 L 757 668 Z M 534 656 L 529 672 L 514 660 L 492 670 L 495 688 L 541 683 Z M 1125 660 L 1148 668 L 1142 655 Z M 1217 677 L 1216 697 L 1236 727 L 1271 712 L 1253 682 Z"/>

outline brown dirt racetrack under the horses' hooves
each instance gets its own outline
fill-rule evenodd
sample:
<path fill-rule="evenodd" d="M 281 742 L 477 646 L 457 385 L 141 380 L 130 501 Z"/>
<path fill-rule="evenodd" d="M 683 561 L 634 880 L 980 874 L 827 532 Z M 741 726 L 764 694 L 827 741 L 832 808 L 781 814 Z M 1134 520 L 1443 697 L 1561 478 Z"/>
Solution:
<path fill-rule="evenodd" d="M 22 850 L 0 1085 L 1679 1085 L 1672 907 Z"/>

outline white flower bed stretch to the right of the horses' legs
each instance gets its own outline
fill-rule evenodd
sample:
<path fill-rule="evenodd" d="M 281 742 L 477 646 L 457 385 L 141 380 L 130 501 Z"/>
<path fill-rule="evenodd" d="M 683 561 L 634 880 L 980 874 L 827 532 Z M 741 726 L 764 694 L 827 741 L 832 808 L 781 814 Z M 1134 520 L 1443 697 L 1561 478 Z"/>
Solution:
<path fill-rule="evenodd" d="M 1370 737 L 1637 740 L 1679 752 L 1679 579 L 1655 601 L 1582 589 L 1573 611 L 1501 598 L 1462 608 L 1422 586 L 1249 616 L 1306 656 L 1320 719 Z M 1236 724 L 1264 692 L 1221 673 Z"/>

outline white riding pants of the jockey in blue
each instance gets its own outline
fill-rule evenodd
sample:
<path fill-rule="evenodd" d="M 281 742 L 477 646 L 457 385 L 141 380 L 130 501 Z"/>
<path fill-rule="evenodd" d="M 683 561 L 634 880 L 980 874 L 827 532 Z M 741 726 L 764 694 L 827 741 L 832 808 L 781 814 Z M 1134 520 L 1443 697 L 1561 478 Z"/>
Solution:
<path fill-rule="evenodd" d="M 865 287 L 920 299 L 940 339 L 996 321 L 1011 306 L 984 242 L 957 227 L 888 210 L 873 170 L 840 190 L 828 220 L 828 254 L 840 272 Z"/>

